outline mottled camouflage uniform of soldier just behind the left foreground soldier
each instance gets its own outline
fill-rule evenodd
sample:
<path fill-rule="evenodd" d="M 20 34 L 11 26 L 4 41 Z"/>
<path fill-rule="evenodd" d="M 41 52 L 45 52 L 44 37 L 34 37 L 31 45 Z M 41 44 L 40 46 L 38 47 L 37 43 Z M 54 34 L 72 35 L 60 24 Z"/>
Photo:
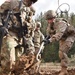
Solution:
<path fill-rule="evenodd" d="M 25 5 L 22 5 L 20 10 L 21 10 L 22 25 L 23 26 L 27 25 L 27 29 L 28 29 L 28 32 L 25 36 L 26 44 L 28 46 L 26 48 L 26 52 L 34 54 L 35 49 L 34 49 L 34 44 L 32 42 L 32 37 L 34 36 L 34 23 L 32 21 L 33 14 L 32 15 L 29 14 L 31 12 L 31 9 L 30 7 L 26 7 Z"/>

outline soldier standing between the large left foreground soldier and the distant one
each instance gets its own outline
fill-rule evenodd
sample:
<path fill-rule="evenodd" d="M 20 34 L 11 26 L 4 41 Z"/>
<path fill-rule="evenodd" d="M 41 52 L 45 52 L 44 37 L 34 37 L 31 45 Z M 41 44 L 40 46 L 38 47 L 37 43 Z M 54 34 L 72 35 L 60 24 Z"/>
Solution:
<path fill-rule="evenodd" d="M 28 32 L 25 36 L 26 44 L 27 44 L 27 48 L 26 48 L 26 54 L 27 55 L 34 54 L 34 52 L 35 52 L 34 44 L 32 41 L 32 38 L 34 36 L 34 29 L 35 29 L 35 23 L 32 20 L 32 17 L 35 13 L 34 11 L 35 11 L 34 8 L 31 6 L 29 15 L 26 18 L 27 20 L 24 21 L 24 25 L 27 25 L 27 30 L 28 30 Z"/>

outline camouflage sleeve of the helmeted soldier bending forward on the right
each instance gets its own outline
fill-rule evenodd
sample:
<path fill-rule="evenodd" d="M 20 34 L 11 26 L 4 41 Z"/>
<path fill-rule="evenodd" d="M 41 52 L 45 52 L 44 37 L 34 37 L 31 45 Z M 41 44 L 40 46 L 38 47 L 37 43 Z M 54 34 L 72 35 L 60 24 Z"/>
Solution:
<path fill-rule="evenodd" d="M 64 32 L 66 31 L 67 28 L 66 22 L 64 21 L 58 22 L 56 25 L 57 25 L 56 34 L 50 38 L 50 42 L 59 41 L 62 38 Z"/>

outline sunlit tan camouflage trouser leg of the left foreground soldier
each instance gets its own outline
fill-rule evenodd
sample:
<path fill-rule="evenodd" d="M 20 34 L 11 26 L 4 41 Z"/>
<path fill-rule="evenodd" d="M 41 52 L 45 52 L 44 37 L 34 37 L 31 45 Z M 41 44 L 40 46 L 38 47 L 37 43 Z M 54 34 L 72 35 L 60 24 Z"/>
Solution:
<path fill-rule="evenodd" d="M 17 45 L 17 42 L 12 36 L 4 37 L 3 39 L 3 45 L 1 50 L 2 55 L 2 69 L 3 72 L 7 70 L 9 73 L 10 69 L 12 68 L 12 65 L 15 65 L 15 46 Z"/>

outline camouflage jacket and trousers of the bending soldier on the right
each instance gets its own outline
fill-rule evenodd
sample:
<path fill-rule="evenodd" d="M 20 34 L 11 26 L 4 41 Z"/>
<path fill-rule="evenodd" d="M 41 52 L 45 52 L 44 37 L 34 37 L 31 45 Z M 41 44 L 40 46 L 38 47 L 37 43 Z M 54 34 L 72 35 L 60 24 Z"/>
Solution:
<path fill-rule="evenodd" d="M 69 29 L 68 23 L 63 21 L 61 18 L 56 18 L 54 21 L 54 25 L 52 26 L 54 26 L 53 29 L 55 30 L 55 34 L 50 32 L 50 30 L 48 29 L 51 35 L 50 42 L 59 41 L 59 58 L 61 60 L 62 67 L 61 70 L 65 72 L 68 65 L 67 53 L 71 49 L 75 41 L 75 32 L 69 34 L 70 30 L 74 31 L 74 27 L 70 27 L 71 29 Z"/>

